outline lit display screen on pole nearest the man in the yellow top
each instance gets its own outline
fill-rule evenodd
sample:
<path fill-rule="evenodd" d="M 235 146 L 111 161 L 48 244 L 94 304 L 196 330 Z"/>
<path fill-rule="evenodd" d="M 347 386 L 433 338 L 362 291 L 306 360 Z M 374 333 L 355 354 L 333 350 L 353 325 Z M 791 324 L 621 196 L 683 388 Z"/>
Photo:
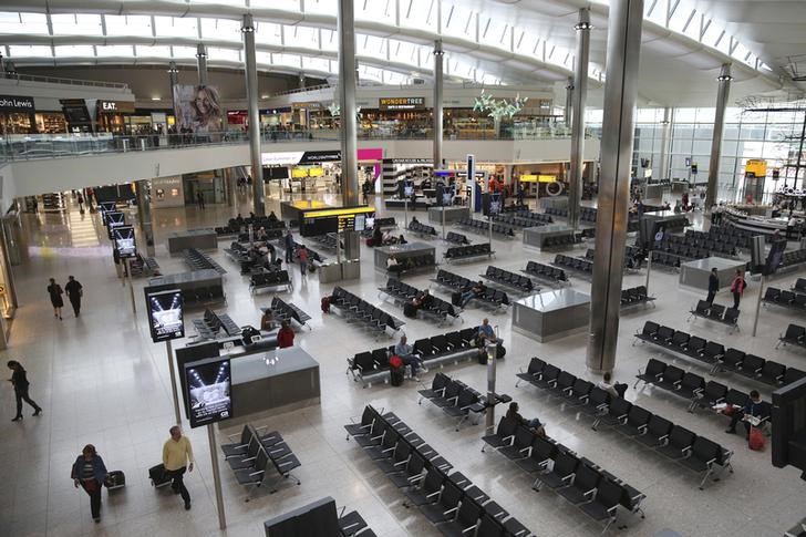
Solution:
<path fill-rule="evenodd" d="M 228 358 L 186 363 L 185 386 L 192 428 L 232 417 L 232 372 Z"/>

